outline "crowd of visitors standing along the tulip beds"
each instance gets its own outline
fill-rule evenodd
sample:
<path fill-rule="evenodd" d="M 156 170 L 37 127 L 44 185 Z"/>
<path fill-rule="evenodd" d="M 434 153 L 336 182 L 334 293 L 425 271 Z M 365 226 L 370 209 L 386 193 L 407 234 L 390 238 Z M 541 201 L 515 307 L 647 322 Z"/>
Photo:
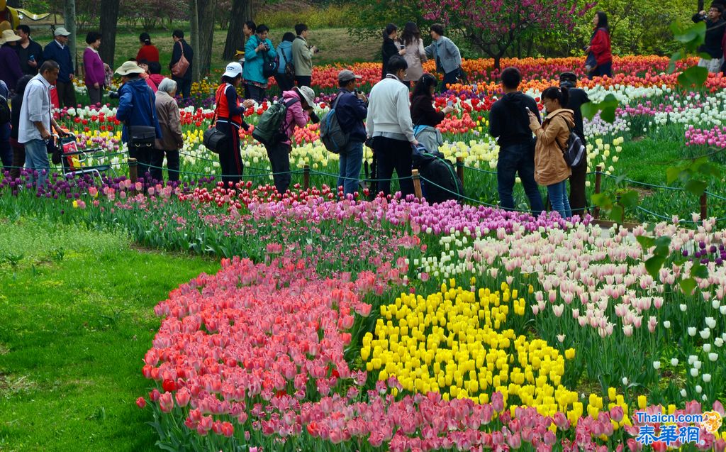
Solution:
<path fill-rule="evenodd" d="M 708 12 L 701 11 L 693 16 L 695 22 L 706 21 L 706 43 L 701 50 L 710 55 L 711 60 L 702 59 L 699 64 L 711 71 L 721 69 L 724 60 L 723 28 L 726 22 L 721 15 L 722 7 L 714 4 Z M 611 76 L 607 15 L 597 12 L 593 25 L 590 45 L 584 49 L 586 73 Z M 274 77 L 282 92 L 277 112 L 280 117 L 279 122 L 274 123 L 277 129 L 272 139 L 264 145 L 274 185 L 279 193 L 285 193 L 290 185 L 293 132 L 309 121 L 318 121 L 313 110 L 315 92 L 311 89 L 311 77 L 313 58 L 319 50 L 309 44 L 310 31 L 304 23 L 295 25 L 294 33 L 286 32 L 277 48 L 264 24 L 248 21 L 243 26 L 243 33 L 244 44 L 237 51 L 240 61 L 227 65 L 215 95 L 213 126 L 224 135 L 216 149 L 221 179 L 229 187 L 242 181 L 240 129 L 249 128 L 243 113 L 266 99 L 269 78 Z M 335 151 L 340 157 L 338 186 L 343 194 L 355 195 L 359 191 L 364 146 L 372 148 L 377 190 L 386 195 L 391 192 L 394 171 L 401 193 L 413 193 L 414 153 L 423 151 L 438 155 L 443 140 L 436 126 L 454 108 L 449 104 L 437 110 L 434 94 L 445 91 L 466 75 L 462 70 L 460 49 L 445 36 L 444 25 L 433 24 L 428 33 L 431 44 L 425 47 L 416 23 L 406 23 L 401 33 L 396 25 L 386 26 L 381 49 L 382 79 L 372 87 L 370 99 L 358 91 L 359 75 L 348 69 L 338 74 L 338 93 L 332 105 L 333 114 L 346 137 L 346 142 Z M 52 118 L 51 93 L 54 87 L 57 105 L 76 105 L 73 88 L 76 68 L 67 45 L 69 35 L 65 28 L 55 28 L 54 40 L 44 49 L 30 38 L 27 25 L 20 25 L 15 33 L 4 31 L 1 35 L 0 96 L 11 100 L 12 120 L 0 124 L 0 157 L 4 166 L 12 168 L 12 177 L 17 177 L 20 166 L 24 165 L 36 171 L 37 184 L 44 184 L 50 169 L 46 142 L 53 132 L 65 133 Z M 115 71 L 122 82 L 116 118 L 123 123 L 121 139 L 129 149 L 129 156 L 136 158 L 139 174 L 163 180 L 166 158 L 167 179 L 178 181 L 179 150 L 184 146 L 184 137 L 175 97 L 190 95 L 194 49 L 184 40 L 184 31 L 175 30 L 172 39 L 174 45 L 168 62 L 171 78 L 166 78 L 162 74 L 158 48 L 152 44 L 149 33 L 141 33 L 136 57 L 123 62 Z M 111 69 L 98 52 L 101 35 L 89 32 L 86 44 L 83 81 L 91 104 L 99 104 L 109 84 Z M 427 60 L 436 62 L 436 72 L 441 74 L 440 85 L 435 76 L 423 70 L 423 62 Z M 563 150 L 571 131 L 584 142 L 580 107 L 589 102 L 587 94 L 576 88 L 574 73 L 562 73 L 559 86 L 552 86 L 542 93 L 542 103 L 547 110 L 547 117 L 542 121 L 534 99 L 518 90 L 520 82 L 521 74 L 516 68 L 502 71 L 504 94 L 494 102 L 489 115 L 489 133 L 499 145 L 500 206 L 516 208 L 513 187 L 518 176 L 531 211 L 544 210 L 538 189 L 538 185 L 543 185 L 547 187 L 552 209 L 563 217 L 583 214 L 587 209 L 584 196 L 586 158 L 577 166 L 569 167 L 563 158 Z M 237 95 L 240 86 L 243 99 Z"/>

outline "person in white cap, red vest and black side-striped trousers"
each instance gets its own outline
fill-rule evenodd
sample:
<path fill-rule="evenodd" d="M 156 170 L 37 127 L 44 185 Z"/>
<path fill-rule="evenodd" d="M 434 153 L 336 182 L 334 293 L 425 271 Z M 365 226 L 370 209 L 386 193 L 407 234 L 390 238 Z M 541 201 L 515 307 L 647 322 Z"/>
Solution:
<path fill-rule="evenodd" d="M 222 170 L 222 182 L 225 188 L 233 188 L 237 182 L 242 180 L 242 155 L 240 154 L 240 129 L 249 129 L 242 113 L 253 100 L 245 100 L 240 105 L 240 97 L 237 96 L 237 87 L 242 82 L 242 65 L 238 62 L 230 62 L 222 74 L 221 84 L 215 94 L 216 100 L 216 128 L 227 135 L 224 140 L 224 147 L 219 150 L 219 166 Z"/>

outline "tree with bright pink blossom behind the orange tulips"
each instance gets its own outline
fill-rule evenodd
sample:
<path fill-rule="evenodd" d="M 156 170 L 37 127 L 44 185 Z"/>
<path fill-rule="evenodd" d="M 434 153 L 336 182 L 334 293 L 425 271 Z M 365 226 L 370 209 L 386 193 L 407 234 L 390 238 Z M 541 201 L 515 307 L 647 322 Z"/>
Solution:
<path fill-rule="evenodd" d="M 427 20 L 438 20 L 460 30 L 489 57 L 494 68 L 507 49 L 521 38 L 534 38 L 537 31 L 564 28 L 572 31 L 576 21 L 595 6 L 578 6 L 576 0 L 419 0 Z"/>

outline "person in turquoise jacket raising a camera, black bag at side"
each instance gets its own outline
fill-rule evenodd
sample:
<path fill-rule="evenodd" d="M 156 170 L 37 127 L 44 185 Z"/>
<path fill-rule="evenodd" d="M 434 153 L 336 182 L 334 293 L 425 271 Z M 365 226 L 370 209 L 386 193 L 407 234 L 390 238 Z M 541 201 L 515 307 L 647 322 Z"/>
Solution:
<path fill-rule="evenodd" d="M 250 36 L 245 44 L 245 65 L 242 78 L 245 79 L 245 99 L 262 102 L 269 80 L 269 76 L 265 76 L 265 65 L 274 62 L 277 52 L 275 52 L 272 41 L 267 39 L 269 33 L 267 25 L 257 25 L 255 31 L 256 33 Z M 277 66 L 274 67 L 274 70 L 277 70 Z M 272 74 L 274 74 L 274 70 Z"/>

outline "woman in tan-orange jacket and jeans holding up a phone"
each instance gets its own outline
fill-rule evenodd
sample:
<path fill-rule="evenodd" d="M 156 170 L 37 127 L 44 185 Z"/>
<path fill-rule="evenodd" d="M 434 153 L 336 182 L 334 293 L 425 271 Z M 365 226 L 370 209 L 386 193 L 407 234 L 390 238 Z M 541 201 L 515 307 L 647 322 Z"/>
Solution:
<path fill-rule="evenodd" d="M 547 187 L 552 209 L 558 211 L 563 218 L 572 217 L 567 197 L 567 179 L 571 171 L 563 153 L 570 130 L 575 125 L 574 112 L 562 107 L 567 104 L 568 97 L 567 89 L 557 86 L 542 92 L 547 118 L 541 125 L 537 116 L 529 112 L 529 128 L 537 137 L 537 145 L 534 147 L 534 180 Z"/>

